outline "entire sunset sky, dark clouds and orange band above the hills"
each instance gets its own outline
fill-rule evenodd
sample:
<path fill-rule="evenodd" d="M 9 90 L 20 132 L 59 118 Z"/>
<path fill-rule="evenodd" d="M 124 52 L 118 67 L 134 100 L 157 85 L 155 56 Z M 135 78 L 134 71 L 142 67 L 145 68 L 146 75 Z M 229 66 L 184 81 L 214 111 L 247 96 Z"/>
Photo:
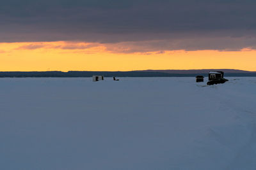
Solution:
<path fill-rule="evenodd" d="M 253 0 L 10 0 L 0 71 L 256 71 Z"/>

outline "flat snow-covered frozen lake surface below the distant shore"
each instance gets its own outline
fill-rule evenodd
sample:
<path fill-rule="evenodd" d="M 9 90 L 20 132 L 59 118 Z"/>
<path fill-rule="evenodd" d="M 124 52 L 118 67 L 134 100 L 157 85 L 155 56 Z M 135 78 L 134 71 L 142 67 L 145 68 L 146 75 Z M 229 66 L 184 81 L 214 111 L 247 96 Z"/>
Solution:
<path fill-rule="evenodd" d="M 256 78 L 1 78 L 0 167 L 255 169 Z"/>

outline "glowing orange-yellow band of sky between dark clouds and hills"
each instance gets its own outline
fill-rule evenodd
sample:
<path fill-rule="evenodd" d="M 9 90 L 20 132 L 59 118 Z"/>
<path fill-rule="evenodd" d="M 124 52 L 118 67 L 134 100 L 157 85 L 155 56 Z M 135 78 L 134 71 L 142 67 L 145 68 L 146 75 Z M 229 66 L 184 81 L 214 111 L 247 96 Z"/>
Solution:
<path fill-rule="evenodd" d="M 143 69 L 243 69 L 256 71 L 256 50 L 117 53 L 104 44 L 0 43 L 0 71 L 132 71 Z"/>

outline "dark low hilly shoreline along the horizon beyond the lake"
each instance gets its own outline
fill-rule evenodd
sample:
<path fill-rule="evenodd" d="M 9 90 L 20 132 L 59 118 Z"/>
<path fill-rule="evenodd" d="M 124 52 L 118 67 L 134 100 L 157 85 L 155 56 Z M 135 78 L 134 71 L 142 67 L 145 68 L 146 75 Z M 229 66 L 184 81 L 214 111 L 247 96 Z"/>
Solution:
<path fill-rule="evenodd" d="M 142 71 L 2 71 L 0 78 L 4 77 L 92 77 L 102 75 L 105 77 L 195 77 L 207 76 L 209 71 L 223 71 L 224 76 L 256 76 L 256 71 L 243 71 L 236 69 L 193 69 L 193 70 L 142 70 Z"/>

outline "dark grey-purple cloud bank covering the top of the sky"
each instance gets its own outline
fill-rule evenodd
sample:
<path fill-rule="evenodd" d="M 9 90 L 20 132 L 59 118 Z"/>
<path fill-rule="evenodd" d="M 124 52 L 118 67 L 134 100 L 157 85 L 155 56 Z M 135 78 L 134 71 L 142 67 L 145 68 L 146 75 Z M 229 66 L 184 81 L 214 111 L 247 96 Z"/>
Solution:
<path fill-rule="evenodd" d="M 131 52 L 255 48 L 255 6 L 249 0 L 9 0 L 0 6 L 0 41 L 118 43 Z"/>

